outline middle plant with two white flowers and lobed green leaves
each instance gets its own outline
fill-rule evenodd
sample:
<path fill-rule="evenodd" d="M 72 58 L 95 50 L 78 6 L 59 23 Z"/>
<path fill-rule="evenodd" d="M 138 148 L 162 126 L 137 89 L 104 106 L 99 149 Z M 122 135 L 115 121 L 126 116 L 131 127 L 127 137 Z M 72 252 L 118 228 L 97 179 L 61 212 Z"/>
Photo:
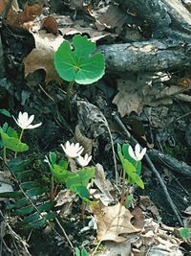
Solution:
<path fill-rule="evenodd" d="M 70 144 L 66 142 L 65 146 L 61 144 L 62 150 L 65 152 L 68 160 L 60 160 L 57 162 L 57 156 L 54 152 L 50 152 L 45 161 L 49 164 L 53 178 L 52 178 L 52 198 L 54 198 L 55 190 L 53 189 L 54 181 L 56 183 L 65 184 L 72 192 L 76 193 L 84 201 L 89 200 L 90 193 L 87 189 L 89 181 L 95 175 L 95 168 L 87 167 L 92 159 L 92 155 L 87 153 L 81 156 L 83 147 L 79 143 Z M 72 172 L 69 167 L 70 159 L 74 160 L 82 167 L 76 172 Z"/>

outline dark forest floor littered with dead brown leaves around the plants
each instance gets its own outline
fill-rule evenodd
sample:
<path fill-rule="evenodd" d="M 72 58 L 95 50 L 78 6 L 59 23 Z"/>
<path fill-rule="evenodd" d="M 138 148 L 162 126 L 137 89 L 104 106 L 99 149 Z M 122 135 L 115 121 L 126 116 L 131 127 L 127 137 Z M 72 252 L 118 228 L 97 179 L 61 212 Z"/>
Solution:
<path fill-rule="evenodd" d="M 42 122 L 39 128 L 24 132 L 29 151 L 17 157 L 8 151 L 8 159 L 16 161 L 14 170 L 25 172 L 25 182 L 37 180 L 45 190 L 42 195 L 26 196 L 22 178 L 11 170 L 9 161 L 5 163 L 1 151 L 0 255 L 189 255 L 191 105 L 185 100 L 190 99 L 189 70 L 121 77 L 106 68 L 101 80 L 74 84 L 67 110 L 67 82 L 61 81 L 53 67 L 53 55 L 63 38 L 71 42 L 74 35 L 87 35 L 98 46 L 141 41 L 151 32 L 146 24 L 141 29 L 127 24 L 125 12 L 114 1 L 37 2 L 25 6 L 23 1 L 13 1 L 2 23 L 6 72 L 0 80 L 0 126 L 7 122 L 19 131 L 5 109 L 14 117 L 26 111 L 34 114 L 34 123 Z M 0 4 L 1 13 L 7 4 Z M 60 144 L 67 141 L 79 143 L 92 155 L 90 166 L 96 174 L 88 187 L 96 205 L 83 201 L 62 183 L 55 185 L 51 198 L 52 173 L 44 160 L 50 152 L 63 159 Z M 144 189 L 126 182 L 133 198 L 128 206 L 127 201 L 121 206 L 117 144 L 134 148 L 136 143 L 147 149 L 141 171 Z M 70 168 L 76 172 L 74 160 Z M 11 174 L 5 175 L 6 170 Z M 36 208 L 26 212 L 29 208 L 22 211 L 18 204 L 15 210 L 11 205 L 18 198 L 2 194 L 12 191 L 24 192 L 28 202 L 39 197 L 37 206 L 42 199 L 51 199 L 53 219 L 43 222 L 43 227 L 36 219 L 32 228 L 19 225 Z M 88 253 L 77 254 L 75 248 Z"/>

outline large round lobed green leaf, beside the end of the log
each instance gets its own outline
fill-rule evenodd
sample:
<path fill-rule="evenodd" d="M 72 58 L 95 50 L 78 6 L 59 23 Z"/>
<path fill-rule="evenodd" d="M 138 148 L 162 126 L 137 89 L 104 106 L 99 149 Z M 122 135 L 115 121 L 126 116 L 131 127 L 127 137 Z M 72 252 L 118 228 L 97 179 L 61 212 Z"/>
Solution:
<path fill-rule="evenodd" d="M 101 79 L 105 73 L 104 56 L 94 53 L 96 43 L 87 36 L 74 35 L 74 50 L 68 41 L 63 41 L 54 56 L 54 66 L 65 81 L 90 84 Z"/>

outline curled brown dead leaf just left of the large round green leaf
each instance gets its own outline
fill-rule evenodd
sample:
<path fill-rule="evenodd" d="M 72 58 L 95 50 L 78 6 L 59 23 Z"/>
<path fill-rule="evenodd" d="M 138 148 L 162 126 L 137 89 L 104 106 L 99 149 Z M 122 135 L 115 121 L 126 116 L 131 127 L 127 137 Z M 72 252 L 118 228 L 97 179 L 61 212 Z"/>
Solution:
<path fill-rule="evenodd" d="M 53 55 L 62 43 L 63 37 L 61 35 L 47 34 L 46 31 L 40 31 L 33 36 L 36 48 L 24 59 L 25 77 L 37 69 L 44 69 L 46 82 L 53 80 L 60 82 L 61 79 L 53 66 Z"/>

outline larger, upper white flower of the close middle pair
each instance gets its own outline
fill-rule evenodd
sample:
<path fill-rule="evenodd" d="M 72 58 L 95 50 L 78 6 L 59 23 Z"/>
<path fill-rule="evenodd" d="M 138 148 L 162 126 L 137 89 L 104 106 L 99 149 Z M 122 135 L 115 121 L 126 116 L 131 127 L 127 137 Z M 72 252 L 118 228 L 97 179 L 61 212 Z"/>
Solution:
<path fill-rule="evenodd" d="M 62 144 L 61 144 L 61 147 L 62 147 L 62 150 L 65 151 L 66 155 L 68 155 L 71 158 L 75 158 L 79 156 L 84 150 L 82 146 L 79 146 L 79 143 L 70 144 L 69 141 L 67 141 L 65 147 Z"/>

